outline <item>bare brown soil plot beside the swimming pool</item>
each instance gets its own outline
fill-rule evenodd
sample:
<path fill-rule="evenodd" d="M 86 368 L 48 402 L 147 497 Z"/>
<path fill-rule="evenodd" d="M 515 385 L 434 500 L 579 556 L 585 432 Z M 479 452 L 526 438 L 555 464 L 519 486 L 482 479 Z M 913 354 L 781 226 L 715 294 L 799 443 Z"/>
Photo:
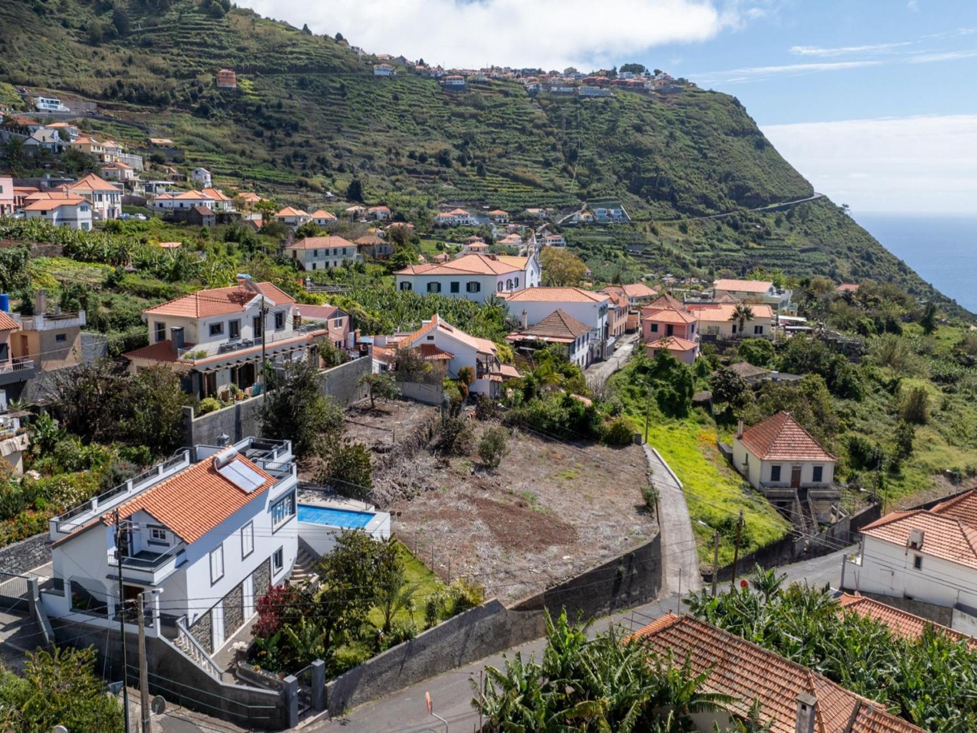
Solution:
<path fill-rule="evenodd" d="M 475 445 L 497 424 L 473 420 Z M 428 449 L 374 476 L 403 490 L 385 506 L 394 531 L 443 579 L 463 575 L 511 601 L 657 532 L 641 503 L 641 448 L 573 447 L 516 432 L 509 451 L 488 470 L 475 452 L 448 458 Z"/>

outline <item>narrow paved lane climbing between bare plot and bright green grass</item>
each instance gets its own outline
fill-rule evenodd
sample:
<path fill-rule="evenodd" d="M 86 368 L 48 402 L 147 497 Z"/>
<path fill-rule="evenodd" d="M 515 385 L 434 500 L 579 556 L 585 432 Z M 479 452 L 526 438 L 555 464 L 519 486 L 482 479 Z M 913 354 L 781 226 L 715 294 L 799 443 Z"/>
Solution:
<path fill-rule="evenodd" d="M 665 586 L 673 592 L 699 590 L 699 551 L 682 486 L 652 447 L 645 444 L 652 483 L 658 487 L 658 528 Z"/>

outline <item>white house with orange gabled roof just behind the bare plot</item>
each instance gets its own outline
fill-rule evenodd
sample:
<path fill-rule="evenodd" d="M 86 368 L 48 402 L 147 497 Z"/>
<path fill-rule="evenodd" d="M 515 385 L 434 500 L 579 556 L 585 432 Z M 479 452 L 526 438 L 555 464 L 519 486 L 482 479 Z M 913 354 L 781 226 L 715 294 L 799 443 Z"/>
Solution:
<path fill-rule="evenodd" d="M 472 367 L 475 381 L 469 389 L 477 395 L 497 396 L 502 381 L 508 376 L 518 376 L 512 367 L 503 369 L 498 359 L 497 347 L 488 338 L 470 336 L 460 328 L 444 321 L 436 313 L 430 321 L 398 343 L 399 349 L 417 349 L 424 359 L 445 361 L 447 376 L 458 377 L 458 370 Z"/>

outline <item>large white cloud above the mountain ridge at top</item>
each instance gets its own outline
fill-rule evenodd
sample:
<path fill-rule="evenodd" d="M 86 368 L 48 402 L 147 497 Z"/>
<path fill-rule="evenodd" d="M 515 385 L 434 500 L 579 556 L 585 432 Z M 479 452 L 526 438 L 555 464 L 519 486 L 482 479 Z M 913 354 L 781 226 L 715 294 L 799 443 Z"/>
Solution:
<path fill-rule="evenodd" d="M 612 65 L 653 46 L 713 37 L 733 18 L 713 0 L 238 0 L 373 53 L 429 64 Z M 743 10 L 744 12 L 744 10 Z M 736 17 L 740 17 L 740 13 Z"/>

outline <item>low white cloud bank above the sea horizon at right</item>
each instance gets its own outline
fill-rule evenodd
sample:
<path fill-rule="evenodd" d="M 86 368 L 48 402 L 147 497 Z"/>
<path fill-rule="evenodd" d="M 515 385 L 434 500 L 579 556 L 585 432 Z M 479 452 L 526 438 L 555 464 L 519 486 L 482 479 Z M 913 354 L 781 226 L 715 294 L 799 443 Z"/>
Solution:
<path fill-rule="evenodd" d="M 977 214 L 977 115 L 762 129 L 818 191 L 856 211 Z"/>

